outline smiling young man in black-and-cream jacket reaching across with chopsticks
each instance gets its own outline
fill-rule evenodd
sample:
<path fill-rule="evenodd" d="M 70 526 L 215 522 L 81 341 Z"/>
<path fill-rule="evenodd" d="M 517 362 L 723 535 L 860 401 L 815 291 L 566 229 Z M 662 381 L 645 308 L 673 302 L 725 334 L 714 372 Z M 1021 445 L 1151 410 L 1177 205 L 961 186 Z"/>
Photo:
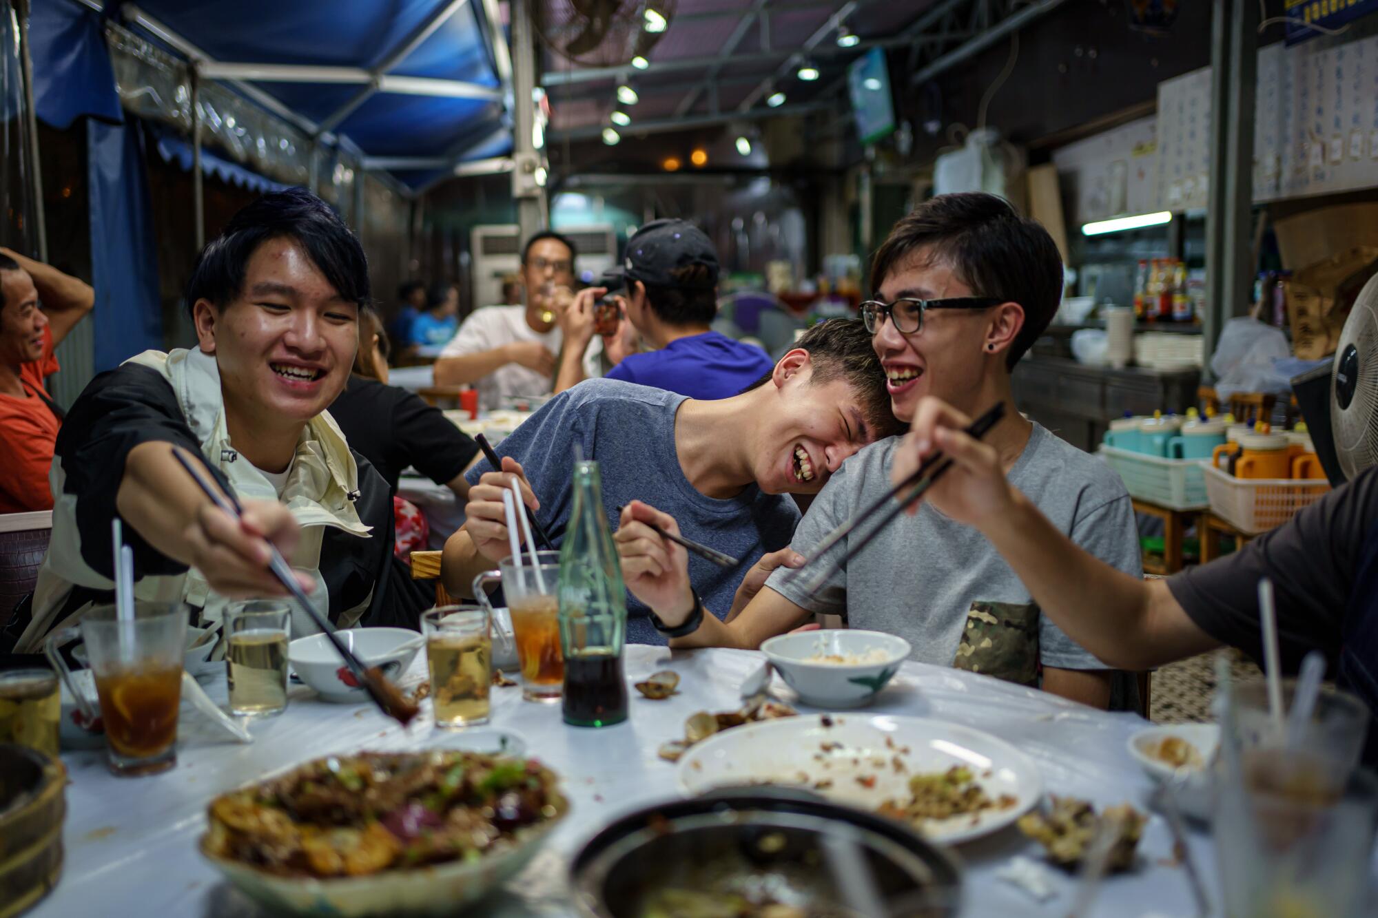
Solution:
<path fill-rule="evenodd" d="M 96 376 L 68 412 L 52 540 L 21 653 L 112 601 L 114 517 L 134 549 L 135 597 L 186 602 L 203 624 L 218 626 L 233 597 L 287 594 L 269 573 L 269 542 L 336 626 L 400 623 L 383 576 L 387 484 L 325 412 L 371 302 L 358 240 L 309 192 L 265 194 L 203 249 L 186 300 L 197 347 L 145 351 Z M 238 522 L 174 449 L 238 495 Z M 314 631 L 299 609 L 292 631 Z"/>

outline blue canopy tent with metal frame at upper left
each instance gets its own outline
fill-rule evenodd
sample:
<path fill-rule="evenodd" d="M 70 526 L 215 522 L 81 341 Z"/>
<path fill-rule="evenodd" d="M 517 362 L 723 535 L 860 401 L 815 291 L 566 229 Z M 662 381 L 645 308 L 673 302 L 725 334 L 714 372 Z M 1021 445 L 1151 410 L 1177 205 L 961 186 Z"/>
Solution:
<path fill-rule="evenodd" d="M 196 172 L 198 216 L 208 174 L 256 190 L 309 185 L 356 225 L 356 171 L 405 197 L 513 149 L 496 0 L 50 0 L 33 7 L 28 47 L 36 116 L 56 128 L 90 119 L 102 309 L 84 376 L 161 345 L 152 149 Z M 128 130 L 125 110 L 153 134 Z"/>

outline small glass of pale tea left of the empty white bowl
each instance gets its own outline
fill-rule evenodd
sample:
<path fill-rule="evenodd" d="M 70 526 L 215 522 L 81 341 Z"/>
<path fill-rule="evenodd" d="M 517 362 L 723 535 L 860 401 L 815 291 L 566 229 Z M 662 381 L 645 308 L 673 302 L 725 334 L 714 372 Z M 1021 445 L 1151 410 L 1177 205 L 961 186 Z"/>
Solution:
<path fill-rule="evenodd" d="M 233 602 L 225 609 L 225 671 L 230 713 L 276 717 L 287 710 L 287 645 L 292 608 L 278 600 Z"/>

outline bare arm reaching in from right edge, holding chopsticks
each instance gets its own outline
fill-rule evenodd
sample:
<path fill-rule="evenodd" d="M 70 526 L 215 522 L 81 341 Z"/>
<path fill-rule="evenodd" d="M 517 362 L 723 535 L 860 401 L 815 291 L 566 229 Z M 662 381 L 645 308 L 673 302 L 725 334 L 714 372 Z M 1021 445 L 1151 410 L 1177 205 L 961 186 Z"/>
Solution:
<path fill-rule="evenodd" d="M 963 433 L 969 423 L 949 405 L 925 398 L 896 449 L 892 480 L 903 480 L 934 451 L 949 456 L 954 467 L 923 499 L 980 529 L 1042 613 L 1107 666 L 1146 670 L 1218 646 L 1164 580 L 1116 571 L 1054 527 L 1005 478 L 995 448 Z"/>

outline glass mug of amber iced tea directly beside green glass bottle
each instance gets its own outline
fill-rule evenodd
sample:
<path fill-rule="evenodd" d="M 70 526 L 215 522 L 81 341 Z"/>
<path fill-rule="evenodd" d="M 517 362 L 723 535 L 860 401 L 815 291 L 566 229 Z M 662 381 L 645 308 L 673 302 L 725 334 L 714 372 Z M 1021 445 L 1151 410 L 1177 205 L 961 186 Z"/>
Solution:
<path fill-rule="evenodd" d="M 484 584 L 502 582 L 517 640 L 521 696 L 528 702 L 558 702 L 565 682 L 565 657 L 559 651 L 559 553 L 537 551 L 535 568 L 525 554 L 520 560 L 506 558 L 497 571 L 474 578 L 474 595 L 486 604 Z"/>

